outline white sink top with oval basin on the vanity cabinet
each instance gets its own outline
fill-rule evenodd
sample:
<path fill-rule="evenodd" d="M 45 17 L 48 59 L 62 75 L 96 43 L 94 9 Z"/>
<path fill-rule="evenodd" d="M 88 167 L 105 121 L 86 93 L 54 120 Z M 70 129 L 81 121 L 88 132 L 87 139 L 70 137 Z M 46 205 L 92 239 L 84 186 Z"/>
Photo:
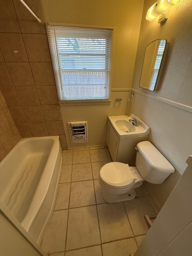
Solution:
<path fill-rule="evenodd" d="M 139 126 L 135 126 L 129 119 L 131 116 L 135 116 Z M 114 130 L 118 137 L 134 137 L 140 135 L 148 135 L 150 131 L 150 127 L 146 125 L 139 117 L 135 114 L 131 114 L 131 116 L 122 115 L 122 116 L 108 116 L 108 119 L 113 126 Z"/>

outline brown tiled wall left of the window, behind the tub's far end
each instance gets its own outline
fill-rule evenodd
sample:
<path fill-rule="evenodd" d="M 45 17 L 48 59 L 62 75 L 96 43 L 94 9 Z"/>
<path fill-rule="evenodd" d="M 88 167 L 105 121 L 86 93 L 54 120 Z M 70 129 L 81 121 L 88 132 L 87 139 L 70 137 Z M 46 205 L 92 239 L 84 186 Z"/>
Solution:
<path fill-rule="evenodd" d="M 21 137 L 66 139 L 40 0 L 1 1 L 0 90 Z M 17 51 L 14 53 L 14 51 Z"/>

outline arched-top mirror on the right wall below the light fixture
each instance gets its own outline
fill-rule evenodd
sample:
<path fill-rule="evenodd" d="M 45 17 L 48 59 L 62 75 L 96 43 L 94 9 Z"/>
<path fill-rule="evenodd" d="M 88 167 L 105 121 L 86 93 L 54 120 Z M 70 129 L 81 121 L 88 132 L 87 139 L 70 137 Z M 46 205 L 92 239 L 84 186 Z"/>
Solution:
<path fill-rule="evenodd" d="M 156 39 L 145 50 L 139 87 L 154 91 L 158 87 L 165 56 L 167 39 Z"/>

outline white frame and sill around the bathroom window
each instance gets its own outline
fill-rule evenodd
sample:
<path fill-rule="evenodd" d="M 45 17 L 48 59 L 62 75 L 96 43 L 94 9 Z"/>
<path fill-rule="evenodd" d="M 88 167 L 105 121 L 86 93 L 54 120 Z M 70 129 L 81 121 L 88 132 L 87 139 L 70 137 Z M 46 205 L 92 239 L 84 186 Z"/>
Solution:
<path fill-rule="evenodd" d="M 89 31 L 89 33 L 91 33 L 91 38 L 96 38 L 94 37 L 94 32 L 98 31 L 103 31 L 103 35 L 107 35 L 106 31 L 108 32 L 108 35 L 110 33 L 110 37 L 105 38 L 106 40 L 108 40 L 107 44 L 108 44 L 108 51 L 109 54 L 107 56 L 107 58 L 109 58 L 109 62 L 108 62 L 108 67 L 105 67 L 105 72 L 106 72 L 106 77 L 107 77 L 107 83 L 104 84 L 104 86 L 106 86 L 106 90 L 107 93 L 105 95 L 105 97 L 103 98 L 81 98 L 81 99 L 73 99 L 73 98 L 65 98 L 64 96 L 64 86 L 62 85 L 61 82 L 61 72 L 63 72 L 63 70 L 61 71 L 61 63 L 59 63 L 59 56 L 58 56 L 58 49 L 57 49 L 57 42 L 56 42 L 56 37 L 58 37 L 58 30 L 61 31 L 62 33 L 62 28 L 63 29 L 85 29 Z M 56 87 L 57 87 L 57 92 L 58 92 L 58 98 L 59 98 L 59 104 L 60 106 L 64 106 L 64 105 L 95 105 L 95 104 L 110 104 L 110 84 L 111 84 L 111 70 L 112 70 L 112 57 L 113 57 L 113 28 L 95 28 L 95 27 L 69 27 L 69 26 L 64 26 L 64 25 L 53 25 L 50 23 L 46 24 L 46 29 L 47 29 L 47 36 L 48 36 L 48 41 L 49 41 L 49 48 L 50 48 L 50 52 L 51 52 L 51 58 L 52 58 L 52 65 L 53 65 L 53 71 L 54 71 L 54 75 L 55 75 L 55 81 L 56 81 Z M 102 35 L 102 36 L 103 36 Z M 60 37 L 60 36 L 59 36 Z M 66 37 L 68 38 L 68 37 Z M 74 69 L 75 71 L 75 69 Z M 102 71 L 101 71 L 102 72 Z M 83 73 L 83 71 L 82 71 Z"/>

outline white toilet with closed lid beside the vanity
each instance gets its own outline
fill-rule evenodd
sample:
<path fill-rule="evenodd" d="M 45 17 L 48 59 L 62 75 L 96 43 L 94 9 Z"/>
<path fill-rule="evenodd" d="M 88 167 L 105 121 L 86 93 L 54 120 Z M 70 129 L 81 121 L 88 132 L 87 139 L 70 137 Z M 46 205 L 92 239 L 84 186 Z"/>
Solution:
<path fill-rule="evenodd" d="M 175 169 L 149 141 L 137 144 L 136 167 L 120 162 L 110 162 L 101 167 L 99 183 L 106 202 L 116 203 L 132 200 L 135 188 L 146 180 L 161 184 Z"/>

